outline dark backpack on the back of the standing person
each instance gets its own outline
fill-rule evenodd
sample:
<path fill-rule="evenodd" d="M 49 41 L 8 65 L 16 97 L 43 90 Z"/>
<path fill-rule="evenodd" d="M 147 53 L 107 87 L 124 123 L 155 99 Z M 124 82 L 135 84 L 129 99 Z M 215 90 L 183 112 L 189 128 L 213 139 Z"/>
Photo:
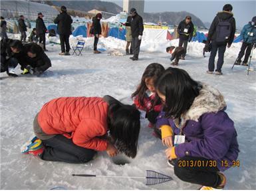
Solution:
<path fill-rule="evenodd" d="M 217 27 L 216 27 L 215 41 L 217 43 L 227 42 L 231 35 L 232 26 L 231 26 L 230 20 L 232 19 L 232 17 L 230 19 L 225 19 L 225 20 L 219 19 L 219 17 L 217 17 L 217 19 L 219 20 L 219 23 L 217 24 Z"/>

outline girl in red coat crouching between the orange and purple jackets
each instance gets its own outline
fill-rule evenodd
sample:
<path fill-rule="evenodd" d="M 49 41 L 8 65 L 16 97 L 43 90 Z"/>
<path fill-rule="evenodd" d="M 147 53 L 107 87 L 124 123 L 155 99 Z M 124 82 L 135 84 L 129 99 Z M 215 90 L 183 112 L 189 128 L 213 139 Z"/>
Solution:
<path fill-rule="evenodd" d="M 163 72 L 164 66 L 162 64 L 149 64 L 142 75 L 140 85 L 132 94 L 136 108 L 146 112 L 146 118 L 150 122 L 150 127 L 156 123 L 156 117 L 162 107 L 160 98 L 156 94 L 154 83 Z"/>

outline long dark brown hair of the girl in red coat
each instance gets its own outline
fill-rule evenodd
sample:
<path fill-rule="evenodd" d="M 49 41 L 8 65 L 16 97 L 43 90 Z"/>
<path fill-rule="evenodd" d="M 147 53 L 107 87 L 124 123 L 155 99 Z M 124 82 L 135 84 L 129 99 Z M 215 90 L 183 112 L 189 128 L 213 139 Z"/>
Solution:
<path fill-rule="evenodd" d="M 154 82 L 156 82 L 156 80 L 162 75 L 163 72 L 164 66 L 157 62 L 153 62 L 146 67 L 144 73 L 142 74 L 142 80 L 140 82 L 140 85 L 138 86 L 137 90 L 132 94 L 132 98 L 138 96 L 138 102 L 140 106 L 145 107 L 143 101 L 146 90 L 148 90 L 145 82 L 146 78 L 153 78 Z M 156 104 L 160 104 L 160 102 L 160 98 L 156 96 L 155 102 L 152 107 L 154 107 Z"/>

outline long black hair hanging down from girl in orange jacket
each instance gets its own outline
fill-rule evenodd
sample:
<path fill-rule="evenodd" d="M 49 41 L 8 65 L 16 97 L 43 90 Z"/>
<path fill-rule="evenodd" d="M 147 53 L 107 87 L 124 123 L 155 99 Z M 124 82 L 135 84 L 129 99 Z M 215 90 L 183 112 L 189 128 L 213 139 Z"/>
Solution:
<path fill-rule="evenodd" d="M 140 134 L 140 112 L 134 106 L 110 104 L 108 125 L 118 151 L 128 157 L 136 157 Z"/>

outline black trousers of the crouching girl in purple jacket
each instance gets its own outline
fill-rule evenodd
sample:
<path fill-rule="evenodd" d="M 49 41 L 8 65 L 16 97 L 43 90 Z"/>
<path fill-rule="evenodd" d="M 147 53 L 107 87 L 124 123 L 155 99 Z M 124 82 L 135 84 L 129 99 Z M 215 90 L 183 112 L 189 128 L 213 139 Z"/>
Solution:
<path fill-rule="evenodd" d="M 208 161 L 207 164 L 206 161 Z M 211 166 L 214 163 L 210 164 L 210 161 L 203 157 L 182 157 L 176 161 L 174 173 L 179 179 L 188 183 L 217 187 L 221 183 L 221 179 L 217 174 L 219 169 Z"/>

